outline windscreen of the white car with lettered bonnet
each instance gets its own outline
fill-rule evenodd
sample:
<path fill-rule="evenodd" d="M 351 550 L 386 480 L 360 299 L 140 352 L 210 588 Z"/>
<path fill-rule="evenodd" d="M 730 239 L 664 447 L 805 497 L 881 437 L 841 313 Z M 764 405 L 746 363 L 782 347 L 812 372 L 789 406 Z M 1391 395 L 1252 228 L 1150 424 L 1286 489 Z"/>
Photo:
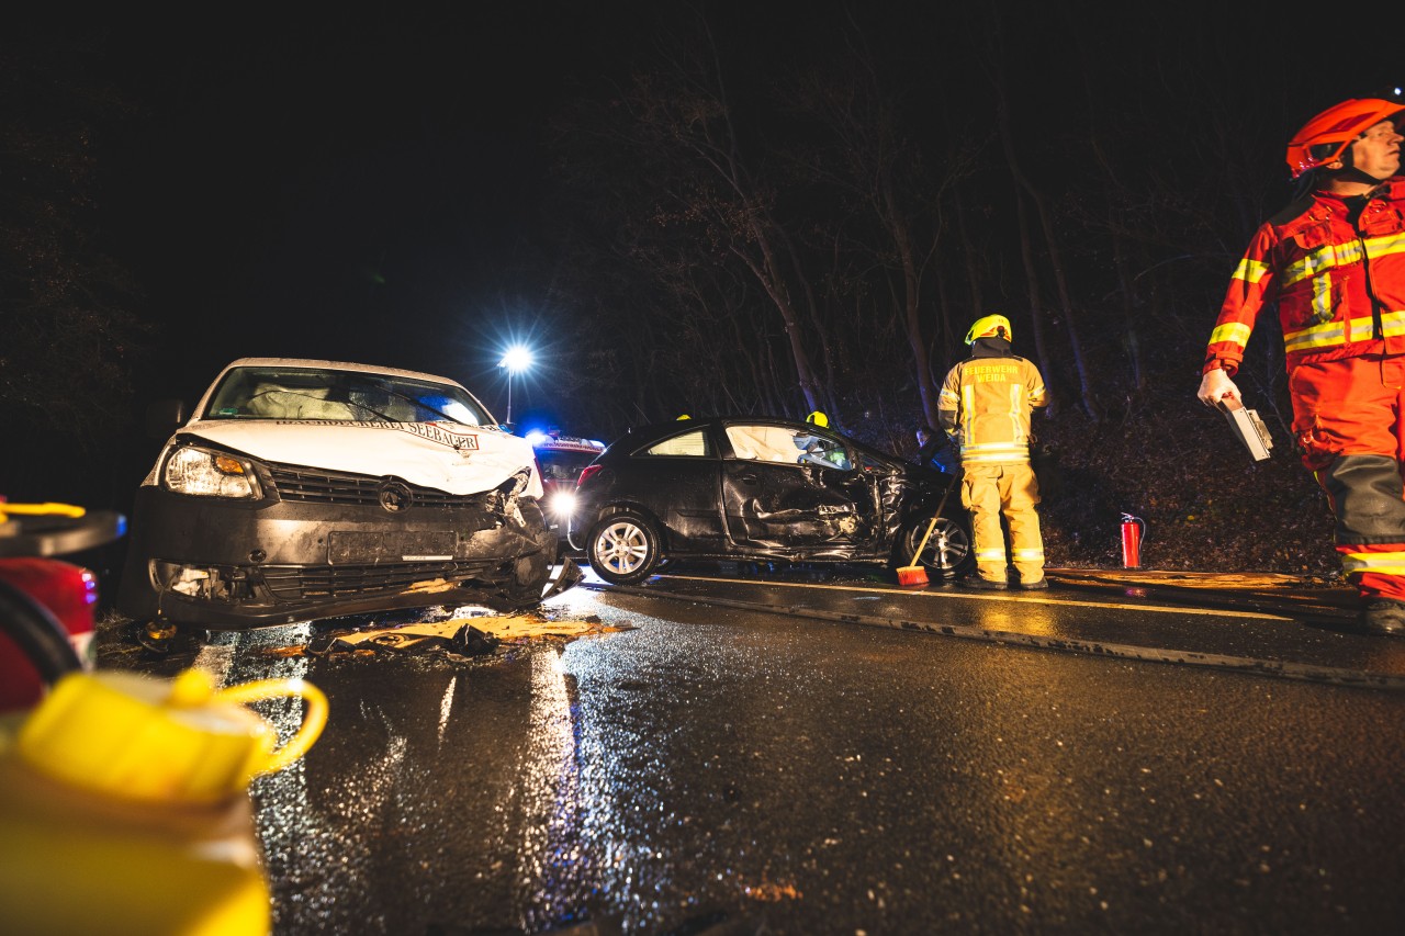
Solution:
<path fill-rule="evenodd" d="M 486 426 L 464 389 L 405 377 L 309 367 L 239 367 L 221 381 L 204 419 L 313 419 L 332 422 Z"/>

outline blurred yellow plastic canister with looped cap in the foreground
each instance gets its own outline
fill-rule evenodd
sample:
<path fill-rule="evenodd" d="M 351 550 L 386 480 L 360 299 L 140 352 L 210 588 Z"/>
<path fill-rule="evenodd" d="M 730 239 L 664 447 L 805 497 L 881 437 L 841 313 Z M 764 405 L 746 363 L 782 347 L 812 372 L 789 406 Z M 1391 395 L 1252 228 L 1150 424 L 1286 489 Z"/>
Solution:
<path fill-rule="evenodd" d="M 306 710 L 280 748 L 244 703 L 285 696 Z M 302 680 L 65 676 L 0 752 L 3 929 L 268 933 L 247 786 L 302 756 L 326 717 Z"/>

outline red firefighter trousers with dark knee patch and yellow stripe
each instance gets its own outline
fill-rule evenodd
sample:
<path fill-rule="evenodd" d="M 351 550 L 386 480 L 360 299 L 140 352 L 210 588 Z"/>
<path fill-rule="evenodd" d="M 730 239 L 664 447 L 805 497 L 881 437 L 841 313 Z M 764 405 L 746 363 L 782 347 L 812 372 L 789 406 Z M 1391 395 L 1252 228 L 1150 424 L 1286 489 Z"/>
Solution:
<path fill-rule="evenodd" d="M 1363 597 L 1405 602 L 1405 356 L 1301 364 L 1288 392 L 1302 464 L 1336 517 L 1342 571 Z"/>

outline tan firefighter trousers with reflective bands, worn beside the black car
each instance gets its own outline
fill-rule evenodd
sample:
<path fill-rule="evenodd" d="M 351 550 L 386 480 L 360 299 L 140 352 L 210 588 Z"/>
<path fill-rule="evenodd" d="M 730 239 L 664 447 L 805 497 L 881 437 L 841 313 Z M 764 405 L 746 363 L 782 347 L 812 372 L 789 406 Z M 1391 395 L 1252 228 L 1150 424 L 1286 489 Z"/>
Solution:
<path fill-rule="evenodd" d="M 965 465 L 961 476 L 961 505 L 971 512 L 975 535 L 975 565 L 982 579 L 1005 582 L 1014 565 L 1020 582 L 1044 578 L 1044 538 L 1040 534 L 1040 486 L 1030 465 Z M 1010 551 L 1005 552 L 1000 517 L 1010 527 Z"/>

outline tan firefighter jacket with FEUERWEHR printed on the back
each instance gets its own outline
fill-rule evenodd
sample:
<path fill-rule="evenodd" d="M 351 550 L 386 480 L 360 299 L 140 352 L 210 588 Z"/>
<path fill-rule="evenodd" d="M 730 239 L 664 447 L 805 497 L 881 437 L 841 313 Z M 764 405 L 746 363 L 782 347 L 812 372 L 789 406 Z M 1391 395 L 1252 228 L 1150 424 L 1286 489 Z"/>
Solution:
<path fill-rule="evenodd" d="M 961 448 L 962 465 L 1030 461 L 1030 412 L 1048 401 L 1044 378 L 1014 354 L 969 357 L 947 372 L 937 398 L 941 429 Z"/>

